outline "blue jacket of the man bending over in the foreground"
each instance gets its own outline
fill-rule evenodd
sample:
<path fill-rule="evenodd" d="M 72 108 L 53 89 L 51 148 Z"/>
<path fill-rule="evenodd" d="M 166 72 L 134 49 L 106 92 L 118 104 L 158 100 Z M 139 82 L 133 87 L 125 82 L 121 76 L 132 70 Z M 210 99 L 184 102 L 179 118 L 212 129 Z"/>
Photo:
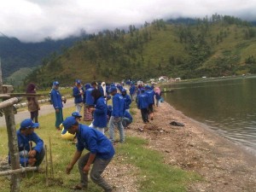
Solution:
<path fill-rule="evenodd" d="M 86 148 L 91 154 L 96 154 L 96 157 L 104 160 L 108 160 L 113 157 L 113 145 L 108 137 L 104 136 L 101 131 L 90 128 L 87 125 L 79 124 L 77 138 L 78 151 L 83 151 L 84 148 Z"/>

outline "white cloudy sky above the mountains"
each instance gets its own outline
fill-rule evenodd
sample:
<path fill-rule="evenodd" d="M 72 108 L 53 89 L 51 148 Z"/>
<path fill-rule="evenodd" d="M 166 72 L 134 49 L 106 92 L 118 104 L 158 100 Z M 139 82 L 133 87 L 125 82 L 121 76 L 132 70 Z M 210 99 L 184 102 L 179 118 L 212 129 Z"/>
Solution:
<path fill-rule="evenodd" d="M 215 13 L 256 20 L 256 0 L 0 0 L 0 8 L 0 32 L 25 42 Z"/>

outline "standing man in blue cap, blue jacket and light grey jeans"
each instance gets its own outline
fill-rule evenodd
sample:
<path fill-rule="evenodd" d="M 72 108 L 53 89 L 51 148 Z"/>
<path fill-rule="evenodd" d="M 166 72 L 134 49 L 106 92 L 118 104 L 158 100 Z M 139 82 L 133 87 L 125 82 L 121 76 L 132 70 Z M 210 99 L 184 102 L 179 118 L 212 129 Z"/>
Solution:
<path fill-rule="evenodd" d="M 113 110 L 109 119 L 109 139 L 114 143 L 114 128 L 118 127 L 119 130 L 119 143 L 125 142 L 125 131 L 122 125 L 122 118 L 125 113 L 125 99 L 119 93 L 117 93 L 116 87 L 111 87 L 109 90 L 112 97 Z"/>

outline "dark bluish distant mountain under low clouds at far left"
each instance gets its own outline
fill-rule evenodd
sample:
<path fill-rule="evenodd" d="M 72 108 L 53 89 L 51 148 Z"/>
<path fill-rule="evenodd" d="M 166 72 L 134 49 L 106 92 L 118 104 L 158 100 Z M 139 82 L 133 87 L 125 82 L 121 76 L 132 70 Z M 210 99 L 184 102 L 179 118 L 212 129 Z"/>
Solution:
<path fill-rule="evenodd" d="M 84 36 L 85 37 L 85 36 Z M 70 37 L 61 40 L 46 38 L 41 43 L 22 43 L 17 38 L 0 37 L 0 57 L 2 60 L 3 78 L 23 67 L 38 67 L 42 59 L 53 52 L 61 53 L 72 46 L 75 41 L 84 37 Z"/>

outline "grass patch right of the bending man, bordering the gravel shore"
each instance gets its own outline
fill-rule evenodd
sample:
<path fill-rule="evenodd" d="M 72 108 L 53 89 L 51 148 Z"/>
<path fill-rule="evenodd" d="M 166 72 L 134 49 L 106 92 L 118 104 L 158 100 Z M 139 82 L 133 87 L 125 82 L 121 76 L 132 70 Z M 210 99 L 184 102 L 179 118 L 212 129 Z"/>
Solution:
<path fill-rule="evenodd" d="M 117 154 L 125 156 L 125 163 L 139 168 L 139 191 L 186 191 L 186 184 L 201 179 L 193 172 L 164 164 L 160 152 L 146 148 L 148 142 L 138 137 L 127 137 L 124 145 L 119 145 Z"/>

